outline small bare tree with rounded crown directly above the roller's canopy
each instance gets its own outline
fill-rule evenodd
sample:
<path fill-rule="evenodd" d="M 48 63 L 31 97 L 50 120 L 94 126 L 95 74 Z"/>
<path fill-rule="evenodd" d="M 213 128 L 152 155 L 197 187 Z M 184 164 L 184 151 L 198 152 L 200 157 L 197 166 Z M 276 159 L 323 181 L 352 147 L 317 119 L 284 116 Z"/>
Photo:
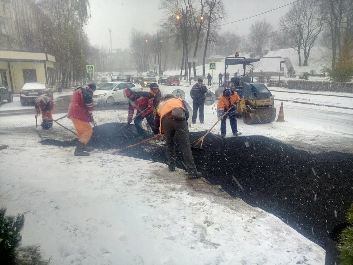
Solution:
<path fill-rule="evenodd" d="M 257 20 L 254 24 L 251 24 L 250 37 L 253 37 L 252 42 L 256 54 L 262 55 L 263 48 L 269 40 L 268 34 L 271 32 L 272 28 L 272 24 L 267 22 L 266 19 Z"/>

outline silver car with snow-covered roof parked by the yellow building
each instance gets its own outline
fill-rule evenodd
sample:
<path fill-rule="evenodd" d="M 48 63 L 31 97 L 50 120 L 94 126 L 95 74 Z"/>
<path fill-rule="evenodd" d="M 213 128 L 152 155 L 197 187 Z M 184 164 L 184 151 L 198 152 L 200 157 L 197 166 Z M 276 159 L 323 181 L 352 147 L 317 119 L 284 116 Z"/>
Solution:
<path fill-rule="evenodd" d="M 54 99 L 52 88 L 46 83 L 25 83 L 20 91 L 21 105 L 34 104 L 38 96 L 48 96 Z"/>

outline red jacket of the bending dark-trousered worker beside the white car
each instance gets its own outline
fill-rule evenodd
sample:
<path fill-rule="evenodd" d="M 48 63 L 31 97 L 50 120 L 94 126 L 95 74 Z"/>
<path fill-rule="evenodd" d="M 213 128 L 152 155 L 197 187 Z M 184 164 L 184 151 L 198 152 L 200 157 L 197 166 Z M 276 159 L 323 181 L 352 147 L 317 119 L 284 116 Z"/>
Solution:
<path fill-rule="evenodd" d="M 135 109 L 137 109 L 137 114 L 141 113 L 141 117 L 146 116 L 148 113 L 153 111 L 153 100 L 154 96 L 152 93 L 149 92 L 135 92 L 135 100 L 129 100 L 129 113 L 127 115 L 127 121 L 132 120 L 133 113 Z M 145 110 L 148 108 L 148 110 Z"/>

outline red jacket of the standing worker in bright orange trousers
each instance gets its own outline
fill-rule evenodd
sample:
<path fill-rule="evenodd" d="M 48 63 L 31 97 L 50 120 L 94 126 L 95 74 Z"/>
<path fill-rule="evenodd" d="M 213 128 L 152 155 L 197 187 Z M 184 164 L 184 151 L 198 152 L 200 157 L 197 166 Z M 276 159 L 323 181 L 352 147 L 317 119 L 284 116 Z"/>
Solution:
<path fill-rule="evenodd" d="M 79 87 L 72 95 L 70 106 L 68 107 L 67 117 L 90 122 L 93 105 L 93 90 L 88 86 Z"/>

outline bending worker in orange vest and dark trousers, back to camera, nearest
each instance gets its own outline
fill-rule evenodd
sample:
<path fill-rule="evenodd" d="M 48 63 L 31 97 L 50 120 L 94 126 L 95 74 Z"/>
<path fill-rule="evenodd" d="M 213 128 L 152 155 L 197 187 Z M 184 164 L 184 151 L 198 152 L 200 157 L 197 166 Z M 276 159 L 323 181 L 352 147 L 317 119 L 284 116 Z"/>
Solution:
<path fill-rule="evenodd" d="M 154 134 L 158 137 L 158 130 L 161 136 L 166 138 L 166 154 L 168 169 L 175 171 L 175 149 L 174 135 L 181 147 L 185 165 L 189 173 L 189 178 L 198 178 L 202 176 L 198 172 L 192 157 L 189 140 L 189 129 L 187 128 L 187 119 L 190 114 L 187 110 L 187 103 L 180 98 L 174 98 L 172 94 L 162 96 L 161 102 L 155 111 L 155 130 Z"/>

